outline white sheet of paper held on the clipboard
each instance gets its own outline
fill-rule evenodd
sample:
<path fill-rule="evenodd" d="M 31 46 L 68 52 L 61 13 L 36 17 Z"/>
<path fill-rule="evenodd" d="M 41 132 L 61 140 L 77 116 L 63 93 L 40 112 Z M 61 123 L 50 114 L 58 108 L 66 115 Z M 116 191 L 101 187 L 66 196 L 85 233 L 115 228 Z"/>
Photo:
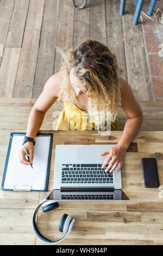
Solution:
<path fill-rule="evenodd" d="M 31 190 L 45 190 L 51 136 L 36 136 L 33 169 L 30 164 L 22 164 L 18 156 L 23 137 L 14 134 L 12 138 L 3 188 L 12 190 L 14 187 L 31 187 Z"/>

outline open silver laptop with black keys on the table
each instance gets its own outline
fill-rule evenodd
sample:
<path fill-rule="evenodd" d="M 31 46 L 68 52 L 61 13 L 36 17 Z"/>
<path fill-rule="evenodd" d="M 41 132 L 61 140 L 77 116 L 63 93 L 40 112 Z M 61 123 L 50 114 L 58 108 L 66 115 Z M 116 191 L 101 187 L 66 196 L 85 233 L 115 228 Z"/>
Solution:
<path fill-rule="evenodd" d="M 55 199 L 122 199 L 121 170 L 116 172 L 119 164 L 112 173 L 105 173 L 109 163 L 104 169 L 102 164 L 107 156 L 99 156 L 111 147 L 114 145 L 56 145 L 53 183 Z"/>

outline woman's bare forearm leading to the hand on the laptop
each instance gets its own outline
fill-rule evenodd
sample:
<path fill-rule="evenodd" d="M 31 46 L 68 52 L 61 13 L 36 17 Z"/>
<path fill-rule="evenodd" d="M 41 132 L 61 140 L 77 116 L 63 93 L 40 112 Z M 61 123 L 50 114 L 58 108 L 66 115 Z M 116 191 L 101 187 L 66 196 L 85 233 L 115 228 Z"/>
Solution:
<path fill-rule="evenodd" d="M 118 145 L 123 148 L 128 149 L 131 141 L 136 136 L 137 132 L 139 132 L 140 127 L 143 122 L 143 115 L 139 115 L 134 118 L 128 118 L 126 124 L 124 126 L 124 131 Z"/>

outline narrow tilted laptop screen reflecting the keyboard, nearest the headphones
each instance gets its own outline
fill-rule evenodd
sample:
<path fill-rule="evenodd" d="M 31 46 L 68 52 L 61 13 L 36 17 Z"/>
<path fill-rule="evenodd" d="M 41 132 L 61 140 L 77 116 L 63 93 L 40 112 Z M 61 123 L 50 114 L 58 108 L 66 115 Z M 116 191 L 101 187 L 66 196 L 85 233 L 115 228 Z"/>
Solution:
<path fill-rule="evenodd" d="M 49 200 L 129 200 L 122 190 L 90 189 L 90 190 L 53 190 Z"/>

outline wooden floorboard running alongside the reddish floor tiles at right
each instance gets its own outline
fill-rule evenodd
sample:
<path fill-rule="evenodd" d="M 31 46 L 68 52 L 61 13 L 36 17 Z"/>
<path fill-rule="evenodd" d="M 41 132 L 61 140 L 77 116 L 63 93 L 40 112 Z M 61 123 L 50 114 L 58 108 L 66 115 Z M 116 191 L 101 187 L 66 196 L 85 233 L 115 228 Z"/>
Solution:
<path fill-rule="evenodd" d="M 135 5 L 128 1 L 127 15 L 122 16 L 128 83 L 137 100 L 152 100 L 141 24 L 132 25 L 134 12 Z"/>

